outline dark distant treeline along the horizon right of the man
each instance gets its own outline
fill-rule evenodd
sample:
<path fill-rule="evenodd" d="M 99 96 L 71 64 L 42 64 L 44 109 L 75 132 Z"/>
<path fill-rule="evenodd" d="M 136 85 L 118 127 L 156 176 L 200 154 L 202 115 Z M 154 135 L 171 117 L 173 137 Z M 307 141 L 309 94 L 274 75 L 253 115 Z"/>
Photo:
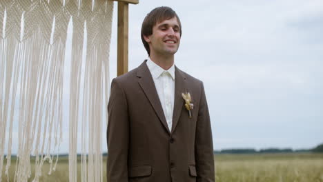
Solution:
<path fill-rule="evenodd" d="M 237 149 L 226 149 L 226 150 L 215 150 L 215 154 L 261 154 L 261 153 L 290 153 L 290 152 L 323 152 L 323 143 L 317 145 L 313 149 L 301 149 L 293 150 L 291 148 L 266 148 L 261 150 L 255 150 L 253 148 L 237 148 Z"/>

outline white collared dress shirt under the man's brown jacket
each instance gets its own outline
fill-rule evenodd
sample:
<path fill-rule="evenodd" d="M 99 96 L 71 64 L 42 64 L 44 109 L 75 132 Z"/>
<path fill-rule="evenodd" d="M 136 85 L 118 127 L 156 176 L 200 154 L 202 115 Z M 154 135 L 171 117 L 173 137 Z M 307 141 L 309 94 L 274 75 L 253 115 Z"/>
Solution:
<path fill-rule="evenodd" d="M 168 128 L 171 132 L 175 95 L 175 65 L 173 64 L 168 70 L 164 70 L 148 58 L 147 66 L 153 77 L 159 101 L 163 108 Z"/>

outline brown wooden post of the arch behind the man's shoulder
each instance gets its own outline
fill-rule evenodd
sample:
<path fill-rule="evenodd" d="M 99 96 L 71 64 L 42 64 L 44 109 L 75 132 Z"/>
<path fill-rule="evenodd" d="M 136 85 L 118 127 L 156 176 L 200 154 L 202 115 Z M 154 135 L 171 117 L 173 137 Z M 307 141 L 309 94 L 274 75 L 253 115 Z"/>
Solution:
<path fill-rule="evenodd" d="M 139 0 L 114 1 L 118 1 L 117 76 L 120 76 L 128 72 L 129 3 L 137 4 Z"/>

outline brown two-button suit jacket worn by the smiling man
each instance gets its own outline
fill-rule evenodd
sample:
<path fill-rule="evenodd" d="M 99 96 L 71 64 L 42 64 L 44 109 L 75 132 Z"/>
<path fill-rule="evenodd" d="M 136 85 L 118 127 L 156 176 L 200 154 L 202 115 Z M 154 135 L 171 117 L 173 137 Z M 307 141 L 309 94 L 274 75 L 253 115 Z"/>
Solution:
<path fill-rule="evenodd" d="M 190 92 L 192 118 L 184 107 Z M 146 61 L 112 80 L 108 103 L 108 182 L 213 182 L 215 168 L 202 81 L 175 67 L 170 131 Z"/>

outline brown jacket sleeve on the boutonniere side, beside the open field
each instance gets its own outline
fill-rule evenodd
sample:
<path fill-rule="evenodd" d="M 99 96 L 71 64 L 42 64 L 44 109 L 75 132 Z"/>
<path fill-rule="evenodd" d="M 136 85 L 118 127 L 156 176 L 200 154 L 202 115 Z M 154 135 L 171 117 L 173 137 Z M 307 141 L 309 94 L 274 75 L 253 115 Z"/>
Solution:
<path fill-rule="evenodd" d="M 195 136 L 195 161 L 197 170 L 197 182 L 214 182 L 215 167 L 213 159 L 213 141 L 211 121 L 208 114 L 208 104 L 204 86 L 198 108 L 196 136 Z"/>

